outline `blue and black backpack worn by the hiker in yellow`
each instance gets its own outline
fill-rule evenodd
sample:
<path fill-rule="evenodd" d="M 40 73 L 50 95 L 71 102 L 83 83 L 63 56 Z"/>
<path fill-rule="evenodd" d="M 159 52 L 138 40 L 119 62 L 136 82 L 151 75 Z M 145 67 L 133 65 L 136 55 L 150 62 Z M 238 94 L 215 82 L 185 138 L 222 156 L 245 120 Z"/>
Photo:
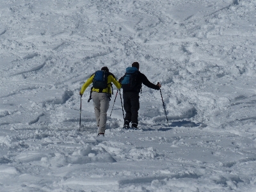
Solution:
<path fill-rule="evenodd" d="M 105 70 L 97 70 L 92 81 L 93 88 L 106 89 L 108 87 L 108 74 Z"/>

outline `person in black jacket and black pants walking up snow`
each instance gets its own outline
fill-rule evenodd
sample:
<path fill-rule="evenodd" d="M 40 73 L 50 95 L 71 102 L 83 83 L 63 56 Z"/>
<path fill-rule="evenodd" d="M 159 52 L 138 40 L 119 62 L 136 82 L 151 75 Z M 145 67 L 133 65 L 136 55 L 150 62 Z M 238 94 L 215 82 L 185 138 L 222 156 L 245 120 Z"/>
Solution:
<path fill-rule="evenodd" d="M 126 71 L 130 70 L 136 70 L 136 79 L 135 86 L 132 86 L 132 90 L 125 89 L 125 85 L 123 86 L 123 99 L 124 99 L 124 109 L 125 109 L 125 118 L 124 118 L 124 127 L 125 129 L 129 129 L 129 124 L 131 123 L 132 128 L 138 129 L 138 111 L 140 109 L 140 90 L 142 83 L 145 84 L 145 86 L 152 88 L 154 90 L 159 90 L 161 88 L 161 84 L 153 84 L 148 81 L 147 77 L 142 74 L 140 69 L 140 64 L 138 62 L 132 63 L 132 67 L 127 67 Z M 121 77 L 119 79 L 120 82 L 123 82 L 124 77 Z"/>

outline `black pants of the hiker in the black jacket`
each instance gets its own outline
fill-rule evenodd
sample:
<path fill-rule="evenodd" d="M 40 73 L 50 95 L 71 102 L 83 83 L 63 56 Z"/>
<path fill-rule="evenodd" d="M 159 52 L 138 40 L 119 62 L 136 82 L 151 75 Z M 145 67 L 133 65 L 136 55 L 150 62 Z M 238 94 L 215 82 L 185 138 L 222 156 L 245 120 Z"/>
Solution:
<path fill-rule="evenodd" d="M 124 92 L 124 109 L 125 118 L 124 121 L 138 124 L 138 111 L 140 109 L 140 96 L 138 92 Z"/>

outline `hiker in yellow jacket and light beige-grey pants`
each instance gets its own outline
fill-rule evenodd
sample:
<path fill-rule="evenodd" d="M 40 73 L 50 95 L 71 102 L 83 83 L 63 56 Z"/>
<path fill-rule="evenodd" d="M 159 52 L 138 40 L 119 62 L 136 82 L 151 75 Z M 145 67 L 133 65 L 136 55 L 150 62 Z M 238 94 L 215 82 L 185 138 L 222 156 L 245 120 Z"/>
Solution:
<path fill-rule="evenodd" d="M 79 94 L 83 95 L 86 88 L 93 83 L 92 87 L 92 96 L 90 96 L 90 99 L 93 100 L 93 106 L 94 106 L 94 112 L 95 112 L 95 118 L 96 123 L 98 127 L 98 136 L 104 136 L 105 129 L 106 129 L 106 122 L 107 122 L 107 111 L 109 108 L 109 100 L 111 98 L 111 83 L 113 82 L 116 86 L 116 88 L 120 89 L 121 84 L 116 80 L 116 77 L 109 72 L 108 67 L 102 67 L 101 71 L 104 71 L 104 74 L 107 75 L 106 77 L 106 88 L 97 88 L 99 86 L 97 83 L 95 83 L 95 74 L 92 74 L 92 76 L 87 79 L 87 81 L 83 84 Z M 94 82 L 93 82 L 94 81 Z M 95 87 L 94 87 L 95 86 Z M 88 101 L 90 101 L 90 99 Z"/>

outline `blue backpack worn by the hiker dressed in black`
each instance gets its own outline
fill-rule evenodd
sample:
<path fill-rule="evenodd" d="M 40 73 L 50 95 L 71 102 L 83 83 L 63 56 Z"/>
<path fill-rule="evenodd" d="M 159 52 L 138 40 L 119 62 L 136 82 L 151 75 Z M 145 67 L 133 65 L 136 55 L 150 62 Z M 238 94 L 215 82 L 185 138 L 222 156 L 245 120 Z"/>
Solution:
<path fill-rule="evenodd" d="M 121 79 L 122 89 L 124 91 L 138 91 L 139 84 L 137 82 L 138 68 L 136 67 L 127 67 L 124 77 Z"/>

